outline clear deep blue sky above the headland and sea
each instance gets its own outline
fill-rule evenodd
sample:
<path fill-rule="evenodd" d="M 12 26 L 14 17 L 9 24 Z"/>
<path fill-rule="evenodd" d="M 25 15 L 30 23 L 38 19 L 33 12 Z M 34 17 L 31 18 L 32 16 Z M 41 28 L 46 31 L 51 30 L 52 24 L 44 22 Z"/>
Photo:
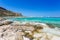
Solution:
<path fill-rule="evenodd" d="M 24 16 L 60 17 L 60 0 L 0 0 L 0 6 Z"/>

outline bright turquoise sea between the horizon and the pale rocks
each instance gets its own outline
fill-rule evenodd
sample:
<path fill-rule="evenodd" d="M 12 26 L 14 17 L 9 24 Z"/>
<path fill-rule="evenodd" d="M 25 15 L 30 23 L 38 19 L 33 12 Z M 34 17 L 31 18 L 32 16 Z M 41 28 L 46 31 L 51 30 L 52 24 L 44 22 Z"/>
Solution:
<path fill-rule="evenodd" d="M 20 21 L 20 22 L 42 22 L 52 24 L 55 27 L 60 27 L 60 17 L 26 17 L 26 18 L 8 18 L 12 21 Z"/>

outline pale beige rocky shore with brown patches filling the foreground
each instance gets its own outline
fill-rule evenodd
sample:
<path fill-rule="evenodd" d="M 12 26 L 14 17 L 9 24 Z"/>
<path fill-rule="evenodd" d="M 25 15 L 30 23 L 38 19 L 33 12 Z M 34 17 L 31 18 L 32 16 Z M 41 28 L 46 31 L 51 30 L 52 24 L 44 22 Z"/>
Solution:
<path fill-rule="evenodd" d="M 60 30 L 44 23 L 9 20 L 1 22 L 0 40 L 60 40 Z"/>

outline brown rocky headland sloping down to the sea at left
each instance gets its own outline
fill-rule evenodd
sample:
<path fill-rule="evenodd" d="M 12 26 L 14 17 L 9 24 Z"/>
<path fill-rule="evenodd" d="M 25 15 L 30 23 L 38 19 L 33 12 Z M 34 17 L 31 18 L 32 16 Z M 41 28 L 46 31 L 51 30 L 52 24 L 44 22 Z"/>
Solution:
<path fill-rule="evenodd" d="M 3 7 L 0 7 L 0 16 L 23 16 L 23 15 L 21 13 L 15 13 Z"/>

